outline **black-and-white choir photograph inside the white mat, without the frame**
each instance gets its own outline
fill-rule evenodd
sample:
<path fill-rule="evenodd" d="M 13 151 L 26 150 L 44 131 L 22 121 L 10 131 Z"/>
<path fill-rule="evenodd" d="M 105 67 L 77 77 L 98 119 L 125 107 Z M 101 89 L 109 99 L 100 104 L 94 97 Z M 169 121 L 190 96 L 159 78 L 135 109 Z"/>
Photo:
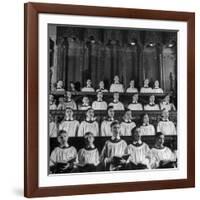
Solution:
<path fill-rule="evenodd" d="M 179 167 L 177 31 L 48 24 L 48 173 Z"/>

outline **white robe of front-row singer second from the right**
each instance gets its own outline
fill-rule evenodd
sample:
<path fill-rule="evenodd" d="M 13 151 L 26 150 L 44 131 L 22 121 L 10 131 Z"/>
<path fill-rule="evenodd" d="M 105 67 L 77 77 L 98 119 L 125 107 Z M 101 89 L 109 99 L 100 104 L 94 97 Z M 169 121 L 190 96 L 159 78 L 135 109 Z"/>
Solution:
<path fill-rule="evenodd" d="M 130 154 L 127 162 L 132 162 L 135 165 L 144 164 L 150 168 L 150 148 L 149 146 L 140 141 L 139 145 L 129 144 L 127 147 L 127 154 Z"/>

